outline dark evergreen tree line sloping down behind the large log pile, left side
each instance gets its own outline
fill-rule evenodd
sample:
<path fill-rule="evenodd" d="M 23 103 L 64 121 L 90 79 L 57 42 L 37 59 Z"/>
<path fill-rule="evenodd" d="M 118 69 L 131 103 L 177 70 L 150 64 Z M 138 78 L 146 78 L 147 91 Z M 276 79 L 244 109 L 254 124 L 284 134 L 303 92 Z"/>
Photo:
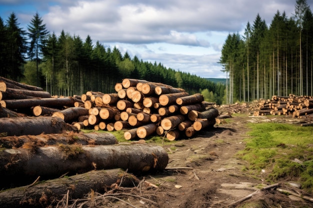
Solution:
<path fill-rule="evenodd" d="M 123 78 L 134 78 L 183 88 L 189 94 L 202 93 L 206 101 L 217 104 L 225 99 L 223 84 L 131 58 L 127 52 L 122 55 L 99 41 L 93 45 L 89 35 L 84 41 L 64 30 L 56 36 L 47 31 L 38 12 L 27 30 L 19 27 L 14 12 L 6 23 L 0 17 L 0 38 L 0 76 L 42 87 L 51 95 L 112 93 Z"/>

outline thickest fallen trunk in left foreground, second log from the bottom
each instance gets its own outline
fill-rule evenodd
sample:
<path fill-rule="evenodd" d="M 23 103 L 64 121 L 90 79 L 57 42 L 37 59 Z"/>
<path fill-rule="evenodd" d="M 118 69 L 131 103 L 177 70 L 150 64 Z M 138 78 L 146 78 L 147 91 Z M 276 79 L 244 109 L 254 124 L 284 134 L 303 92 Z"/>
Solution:
<path fill-rule="evenodd" d="M 67 172 L 70 176 L 94 169 L 122 168 L 130 173 L 160 171 L 167 163 L 166 151 L 150 145 L 59 145 L 39 147 L 35 153 L 29 149 L 5 149 L 0 152 L 0 188 L 19 179 L 22 180 L 19 183 L 29 183 L 38 176 L 46 180 Z"/>

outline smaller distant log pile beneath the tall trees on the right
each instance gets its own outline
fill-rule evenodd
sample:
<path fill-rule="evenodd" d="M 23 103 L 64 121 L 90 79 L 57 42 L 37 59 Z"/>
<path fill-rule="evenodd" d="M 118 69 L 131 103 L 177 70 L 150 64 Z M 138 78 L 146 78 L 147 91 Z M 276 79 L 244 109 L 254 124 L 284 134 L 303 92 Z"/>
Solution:
<path fill-rule="evenodd" d="M 289 115 L 294 118 L 312 118 L 313 97 L 292 94 L 289 96 L 273 95 L 270 100 L 261 100 L 253 115 Z"/>

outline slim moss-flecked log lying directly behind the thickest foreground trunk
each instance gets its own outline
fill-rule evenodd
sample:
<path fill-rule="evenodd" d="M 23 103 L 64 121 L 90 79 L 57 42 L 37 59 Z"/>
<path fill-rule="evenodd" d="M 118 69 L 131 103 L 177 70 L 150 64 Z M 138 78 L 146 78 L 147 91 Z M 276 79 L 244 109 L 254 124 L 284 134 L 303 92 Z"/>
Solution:
<path fill-rule="evenodd" d="M 27 148 L 36 151 L 38 147 L 57 144 L 114 145 L 117 139 L 110 133 L 62 133 L 0 137 L 2 148 Z"/>

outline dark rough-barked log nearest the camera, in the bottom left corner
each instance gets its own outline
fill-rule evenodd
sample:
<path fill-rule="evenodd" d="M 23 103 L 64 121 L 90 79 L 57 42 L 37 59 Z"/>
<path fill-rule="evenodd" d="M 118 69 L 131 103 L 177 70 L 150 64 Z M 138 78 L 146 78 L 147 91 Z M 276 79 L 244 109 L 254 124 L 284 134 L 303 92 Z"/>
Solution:
<path fill-rule="evenodd" d="M 32 186 L 4 190 L 0 192 L 0 207 L 54 207 L 67 193 L 71 200 L 81 199 L 90 190 L 103 193 L 115 183 L 116 186 L 133 187 L 138 184 L 138 180 L 121 169 L 92 170 L 75 176 L 39 182 Z"/>

